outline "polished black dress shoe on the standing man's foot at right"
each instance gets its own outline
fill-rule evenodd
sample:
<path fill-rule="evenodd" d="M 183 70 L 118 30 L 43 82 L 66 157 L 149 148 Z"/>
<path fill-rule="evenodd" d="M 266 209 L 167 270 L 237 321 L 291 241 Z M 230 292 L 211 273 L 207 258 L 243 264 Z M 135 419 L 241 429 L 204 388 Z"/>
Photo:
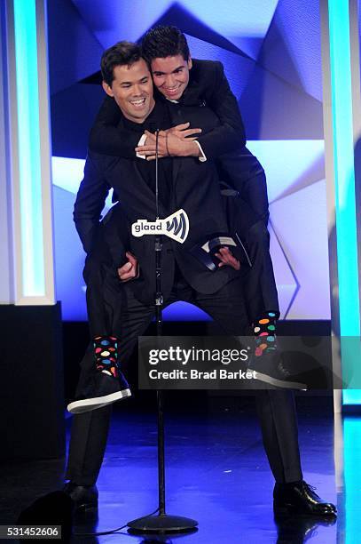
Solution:
<path fill-rule="evenodd" d="M 332 502 L 318 497 L 306 482 L 295 484 L 276 484 L 273 490 L 273 510 L 277 516 L 337 516 Z"/>

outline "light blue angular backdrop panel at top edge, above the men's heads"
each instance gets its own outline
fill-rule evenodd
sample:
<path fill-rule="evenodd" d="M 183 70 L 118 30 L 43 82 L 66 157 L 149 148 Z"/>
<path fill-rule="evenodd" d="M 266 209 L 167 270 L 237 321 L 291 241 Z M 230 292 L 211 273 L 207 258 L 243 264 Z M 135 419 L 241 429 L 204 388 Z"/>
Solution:
<path fill-rule="evenodd" d="M 171 24 L 230 51 L 239 49 L 256 58 L 270 26 L 278 0 L 73 0 L 77 10 L 109 47 L 127 39 L 136 41 L 156 24 Z M 228 43 L 228 44 L 227 44 Z"/>

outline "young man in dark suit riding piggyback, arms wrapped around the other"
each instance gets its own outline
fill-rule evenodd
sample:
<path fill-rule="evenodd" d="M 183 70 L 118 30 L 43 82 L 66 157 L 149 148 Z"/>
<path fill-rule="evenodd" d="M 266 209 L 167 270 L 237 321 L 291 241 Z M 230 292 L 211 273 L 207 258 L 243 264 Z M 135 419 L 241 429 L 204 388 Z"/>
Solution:
<path fill-rule="evenodd" d="M 151 66 L 156 99 L 176 102 L 172 120 L 178 126 L 161 132 L 159 156 L 184 156 L 184 136 L 191 129 L 189 124 L 180 123 L 189 121 L 192 115 L 195 123 L 192 123 L 195 130 L 192 135 L 197 135 L 199 160 L 215 160 L 220 179 L 235 189 L 255 212 L 257 220 L 242 233 L 251 261 L 255 262 L 244 277 L 247 312 L 256 337 L 252 368 L 257 371 L 258 379 L 272 385 L 302 388 L 302 384 L 294 385 L 284 367 L 278 364 L 275 332 L 279 300 L 269 252 L 266 180 L 261 164 L 245 147 L 245 131 L 237 100 L 224 76 L 223 66 L 211 60 L 192 60 L 185 36 L 175 27 L 151 29 L 143 38 L 142 51 Z M 210 108 L 216 114 L 212 130 L 197 134 L 196 127 L 200 122 L 197 122 L 194 108 L 200 120 L 205 115 L 202 108 Z M 193 113 L 188 113 L 187 109 Z M 90 132 L 90 149 L 124 157 L 134 157 L 137 151 L 138 155 L 153 158 L 154 135 L 145 131 L 137 141 L 134 135 L 132 137 L 118 125 L 120 119 L 121 113 L 114 100 L 106 99 Z M 145 145 L 139 146 L 139 143 Z M 239 266 L 226 249 L 221 258 L 224 262 L 220 266 L 227 262 Z M 131 272 L 134 274 L 135 268 Z"/>

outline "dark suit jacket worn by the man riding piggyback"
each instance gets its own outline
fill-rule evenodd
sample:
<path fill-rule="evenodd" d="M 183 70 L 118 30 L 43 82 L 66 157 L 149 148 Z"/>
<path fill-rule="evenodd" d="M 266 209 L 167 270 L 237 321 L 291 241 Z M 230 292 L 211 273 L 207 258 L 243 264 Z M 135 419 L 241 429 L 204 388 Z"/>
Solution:
<path fill-rule="evenodd" d="M 262 165 L 255 156 L 245 147 L 246 136 L 239 114 L 236 97 L 230 89 L 224 68 L 221 62 L 214 60 L 192 60 L 190 80 L 184 94 L 179 101 L 179 111 L 182 115 L 174 117 L 173 124 L 191 121 L 191 126 L 203 128 L 197 124 L 194 116 L 188 112 L 189 108 L 207 106 L 216 114 L 216 124 L 208 132 L 203 131 L 199 137 L 200 145 L 208 159 L 216 159 L 216 167 L 221 180 L 239 192 L 248 202 L 249 182 L 263 183 L 257 174 L 264 174 Z M 163 95 L 154 89 L 157 100 L 165 100 Z M 129 135 L 124 131 L 122 124 L 116 125 L 122 119 L 122 112 L 114 99 L 106 97 L 98 112 L 95 123 L 90 131 L 90 150 L 106 155 L 134 158 L 134 148 L 137 147 L 137 135 Z M 265 184 L 260 190 L 265 191 Z M 262 203 L 255 212 L 260 216 L 268 217 L 267 199 L 253 199 L 248 204 L 255 205 L 255 201 Z"/>

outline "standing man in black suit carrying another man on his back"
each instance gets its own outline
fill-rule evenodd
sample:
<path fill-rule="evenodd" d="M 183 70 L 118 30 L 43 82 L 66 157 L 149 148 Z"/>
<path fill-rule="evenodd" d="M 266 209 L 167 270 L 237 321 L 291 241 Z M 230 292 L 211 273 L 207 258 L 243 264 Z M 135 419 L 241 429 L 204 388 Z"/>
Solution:
<path fill-rule="evenodd" d="M 114 95 L 122 109 L 123 128 L 137 132 L 137 136 L 149 130 L 152 124 L 167 130 L 169 107 L 154 102 L 152 79 L 137 46 L 121 43 L 107 50 L 102 58 L 102 72 L 106 92 Z M 161 216 L 167 217 L 169 212 L 181 206 L 188 213 L 191 225 L 190 238 L 182 247 L 171 240 L 164 241 L 165 304 L 175 300 L 191 301 L 213 316 L 224 332 L 244 334 L 248 317 L 239 272 L 223 267 L 212 273 L 202 268 L 187 252 L 203 236 L 207 237 L 215 230 L 226 230 L 227 223 L 214 164 L 198 161 L 200 148 L 194 141 L 184 141 L 182 145 L 189 156 L 164 158 L 160 170 Z M 232 148 L 232 141 L 229 146 Z M 97 234 L 99 214 L 109 187 L 113 187 L 122 199 L 129 223 L 140 218 L 154 220 L 153 172 L 153 164 L 142 159 L 89 154 L 75 203 L 75 224 L 86 250 L 91 248 Z M 152 239 L 130 237 L 129 248 L 137 256 L 144 277 L 122 285 L 117 294 L 114 287 L 112 294 L 119 296 L 122 307 L 121 362 L 129 356 L 137 336 L 145 331 L 154 313 Z M 114 326 L 119 325 L 115 318 Z M 101 334 L 99 338 L 102 338 Z M 100 350 L 110 350 L 115 346 L 110 341 L 112 337 L 107 336 L 106 340 L 106 349 Z M 112 358 L 109 353 L 107 356 Z M 89 375 L 92 367 L 92 354 L 89 353 L 84 358 L 82 376 Z M 117 364 L 105 364 L 104 359 L 99 358 L 94 371 L 100 383 L 106 383 L 105 389 L 109 382 L 117 380 Z M 310 486 L 302 482 L 293 398 L 287 396 L 286 391 L 262 390 L 257 392 L 256 401 L 263 443 L 277 482 L 275 508 L 287 510 L 291 507 L 314 514 L 334 514 L 334 506 L 320 500 Z M 97 503 L 95 482 L 106 447 L 109 418 L 110 406 L 75 415 L 67 465 L 70 482 L 66 491 L 78 508 L 91 508 Z"/>

